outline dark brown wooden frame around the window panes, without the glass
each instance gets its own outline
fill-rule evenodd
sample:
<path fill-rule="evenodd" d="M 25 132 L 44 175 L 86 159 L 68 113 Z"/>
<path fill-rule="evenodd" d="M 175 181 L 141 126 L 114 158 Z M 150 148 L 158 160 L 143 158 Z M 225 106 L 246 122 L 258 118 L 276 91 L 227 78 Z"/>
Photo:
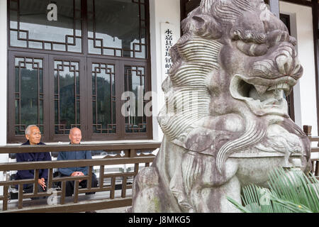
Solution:
<path fill-rule="evenodd" d="M 10 0 L 8 1 L 8 14 L 10 9 Z M 39 0 L 40 1 L 40 0 Z M 48 142 L 66 142 L 69 141 L 68 135 L 55 135 L 55 106 L 54 106 L 54 60 L 69 60 L 80 62 L 80 118 L 82 129 L 82 141 L 95 140 L 152 140 L 152 117 L 147 117 L 147 131 L 146 133 L 125 133 L 125 118 L 121 116 L 121 106 L 125 101 L 121 100 L 121 92 L 124 91 L 124 65 L 143 65 L 145 66 L 146 89 L 151 91 L 151 70 L 150 70 L 150 4 L 145 0 L 145 24 L 147 26 L 147 53 L 146 58 L 134 57 L 114 57 L 108 55 L 94 55 L 88 52 L 88 28 L 87 28 L 87 14 L 86 1 L 82 0 L 82 53 L 79 52 L 64 52 L 59 50 L 40 50 L 31 48 L 18 48 L 10 46 L 10 32 L 8 33 L 7 47 L 8 47 L 8 109 L 7 109 L 7 143 L 22 143 L 26 140 L 24 135 L 15 135 L 14 121 L 14 59 L 18 57 L 40 57 L 43 58 L 43 77 L 44 81 L 44 113 L 43 113 L 43 137 L 42 141 Z M 132 0 L 133 1 L 133 0 Z M 8 16 L 8 31 L 10 29 L 10 16 Z M 116 84 L 116 134 L 94 134 L 92 128 L 92 103 L 91 103 L 91 62 L 114 62 L 116 65 L 116 74 L 118 83 Z"/>

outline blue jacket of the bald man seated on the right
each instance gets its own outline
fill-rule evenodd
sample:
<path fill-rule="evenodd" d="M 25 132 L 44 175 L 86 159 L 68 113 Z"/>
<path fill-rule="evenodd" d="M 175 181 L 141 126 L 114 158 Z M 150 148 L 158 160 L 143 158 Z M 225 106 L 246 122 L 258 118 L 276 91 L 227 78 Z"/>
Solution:
<path fill-rule="evenodd" d="M 91 150 L 80 151 L 60 151 L 57 155 L 57 160 L 81 160 L 92 159 Z M 70 176 L 72 172 L 83 172 L 84 175 L 88 175 L 89 167 L 67 167 L 58 169 L 62 175 Z"/>

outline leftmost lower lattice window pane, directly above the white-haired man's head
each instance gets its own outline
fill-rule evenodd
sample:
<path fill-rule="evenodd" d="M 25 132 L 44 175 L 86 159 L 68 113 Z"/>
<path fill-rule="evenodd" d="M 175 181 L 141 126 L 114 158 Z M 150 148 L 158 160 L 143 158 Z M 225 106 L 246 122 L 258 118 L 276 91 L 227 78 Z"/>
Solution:
<path fill-rule="evenodd" d="M 35 124 L 43 132 L 43 59 L 15 57 L 15 135 Z"/>

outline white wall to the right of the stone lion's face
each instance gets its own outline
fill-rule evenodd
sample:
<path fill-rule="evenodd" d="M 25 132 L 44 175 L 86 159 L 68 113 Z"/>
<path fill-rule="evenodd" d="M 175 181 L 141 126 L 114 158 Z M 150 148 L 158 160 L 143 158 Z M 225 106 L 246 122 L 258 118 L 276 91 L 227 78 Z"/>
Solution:
<path fill-rule="evenodd" d="M 303 66 L 303 77 L 293 89 L 296 123 L 313 126 L 312 134 L 318 135 L 312 10 L 280 1 L 280 12 L 291 16 L 291 35 L 298 40 L 298 58 Z"/>

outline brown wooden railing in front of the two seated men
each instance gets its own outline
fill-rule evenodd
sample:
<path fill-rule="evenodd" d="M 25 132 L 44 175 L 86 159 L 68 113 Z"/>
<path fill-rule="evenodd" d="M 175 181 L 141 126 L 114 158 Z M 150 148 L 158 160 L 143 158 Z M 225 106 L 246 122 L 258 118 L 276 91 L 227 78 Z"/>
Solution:
<path fill-rule="evenodd" d="M 63 160 L 63 161 L 45 161 L 45 162 L 11 162 L 0 163 L 0 171 L 9 172 L 12 170 L 35 170 L 34 179 L 19 179 L 7 180 L 0 182 L 0 187 L 3 187 L 3 196 L 0 196 L 2 201 L 1 212 L 81 212 L 99 209 L 109 209 L 123 206 L 131 206 L 132 197 L 127 196 L 127 190 L 132 189 L 132 184 L 128 184 L 129 177 L 135 177 L 138 174 L 140 164 L 150 166 L 155 155 L 150 152 L 159 148 L 160 143 L 125 143 L 125 144 L 94 144 L 94 145 L 23 145 L 23 146 L 0 146 L 1 153 L 38 153 L 38 152 L 60 152 L 60 151 L 77 151 L 77 150 L 103 150 L 112 152 L 115 155 L 107 155 L 106 157 L 92 160 Z M 145 153 L 148 151 L 148 155 Z M 110 165 L 134 165 L 134 170 L 131 172 L 105 172 L 106 167 Z M 79 177 L 53 177 L 53 170 L 61 167 L 89 167 L 89 175 Z M 99 167 L 98 187 L 91 187 L 93 167 Z M 47 192 L 37 192 L 39 170 L 48 170 Z M 121 194 L 116 196 L 116 179 L 121 179 Z M 86 188 L 79 188 L 81 180 L 87 180 Z M 105 179 L 109 179 L 109 184 L 105 183 Z M 66 182 L 74 181 L 74 196 L 72 198 L 65 196 Z M 60 190 L 54 189 L 53 183 L 61 182 Z M 33 193 L 23 193 L 23 184 L 33 184 Z M 18 201 L 10 201 L 9 203 L 9 188 L 18 185 Z M 30 206 L 23 206 L 27 203 L 28 198 L 39 196 L 54 196 L 60 198 L 60 203 L 47 204 L 47 199 L 33 200 L 29 202 Z M 82 200 L 79 194 L 89 192 L 109 192 L 99 199 L 88 199 L 88 196 L 83 196 Z M 9 205 L 13 204 L 13 209 L 9 209 Z M 38 204 L 35 205 L 35 204 Z"/>

